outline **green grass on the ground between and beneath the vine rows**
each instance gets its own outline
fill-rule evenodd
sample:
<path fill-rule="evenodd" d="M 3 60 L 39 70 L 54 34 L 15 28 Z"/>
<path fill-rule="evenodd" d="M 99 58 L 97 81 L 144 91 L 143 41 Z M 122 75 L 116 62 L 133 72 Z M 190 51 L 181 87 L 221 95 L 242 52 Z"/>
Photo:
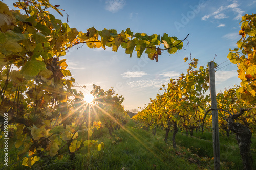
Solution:
<path fill-rule="evenodd" d="M 129 132 L 129 133 L 128 133 Z M 169 133 L 168 142 L 164 142 L 165 131 L 158 129 L 156 136 L 149 131 L 134 128 L 130 121 L 125 129 L 120 129 L 110 136 L 107 129 L 94 131 L 92 138 L 104 142 L 105 148 L 101 151 L 92 150 L 90 153 L 76 154 L 71 162 L 65 155 L 62 160 L 44 158 L 35 163 L 32 169 L 213 169 L 212 161 L 212 133 L 194 133 L 194 137 L 186 136 L 180 131 L 176 135 L 177 149 L 172 147 L 172 133 Z M 223 169 L 242 169 L 242 160 L 234 140 L 220 136 L 221 166 Z M 252 139 L 251 148 L 253 159 L 256 140 Z M 17 149 L 10 155 L 14 156 Z M 0 155 L 3 156 L 3 152 Z M 14 163 L 15 159 L 11 161 Z M 1 162 L 2 163 L 2 162 Z M 9 163 L 9 164 L 11 164 Z M 9 169 L 30 169 L 22 166 L 22 162 Z M 0 168 L 3 167 L 0 164 Z M 255 162 L 254 168 L 256 169 Z"/>

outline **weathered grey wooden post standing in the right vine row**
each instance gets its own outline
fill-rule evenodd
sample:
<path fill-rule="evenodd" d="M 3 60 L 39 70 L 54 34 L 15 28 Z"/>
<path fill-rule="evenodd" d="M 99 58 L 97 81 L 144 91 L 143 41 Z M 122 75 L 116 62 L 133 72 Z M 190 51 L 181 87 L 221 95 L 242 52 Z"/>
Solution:
<path fill-rule="evenodd" d="M 214 145 L 214 169 L 220 169 L 220 139 L 219 139 L 219 123 L 218 111 L 215 92 L 215 72 L 214 62 L 208 63 L 209 66 L 209 80 L 210 80 L 210 98 L 211 98 L 211 113 L 212 113 L 212 141 Z"/>

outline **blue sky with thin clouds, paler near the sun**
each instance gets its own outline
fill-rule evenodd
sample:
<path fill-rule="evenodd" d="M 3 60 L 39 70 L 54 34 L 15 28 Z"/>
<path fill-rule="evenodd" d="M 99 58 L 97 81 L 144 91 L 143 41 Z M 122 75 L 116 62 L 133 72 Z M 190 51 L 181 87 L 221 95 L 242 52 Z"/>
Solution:
<path fill-rule="evenodd" d="M 14 1 L 4 0 L 12 9 Z M 69 69 L 76 82 L 85 85 L 84 94 L 92 90 L 92 84 L 108 90 L 114 87 L 119 95 L 123 95 L 125 110 L 144 107 L 155 98 L 162 84 L 167 85 L 169 78 L 176 78 L 186 72 L 188 64 L 184 57 L 199 59 L 199 65 L 207 65 L 215 57 L 221 64 L 216 72 L 217 92 L 224 88 L 240 84 L 237 78 L 237 67 L 229 64 L 227 55 L 229 48 L 236 48 L 240 36 L 241 16 L 255 13 L 256 1 L 134 1 L 134 0 L 50 0 L 53 5 L 64 9 L 61 17 L 53 13 L 63 22 L 69 15 L 69 26 L 86 32 L 88 28 L 97 30 L 116 29 L 118 32 L 131 28 L 136 33 L 167 33 L 184 39 L 183 50 L 169 55 L 167 52 L 159 56 L 159 61 L 151 61 L 143 54 L 139 59 L 132 58 L 119 48 L 118 52 L 106 49 L 90 49 L 86 45 L 74 47 L 67 53 Z M 78 48 L 79 47 L 79 48 Z M 80 48 L 81 47 L 81 48 Z M 78 48 L 78 49 L 77 49 Z M 229 65 L 228 65 L 229 64 Z M 227 66 L 226 66 L 227 65 Z M 224 66 L 224 67 L 223 67 Z M 223 67 L 223 68 L 221 68 Z"/>

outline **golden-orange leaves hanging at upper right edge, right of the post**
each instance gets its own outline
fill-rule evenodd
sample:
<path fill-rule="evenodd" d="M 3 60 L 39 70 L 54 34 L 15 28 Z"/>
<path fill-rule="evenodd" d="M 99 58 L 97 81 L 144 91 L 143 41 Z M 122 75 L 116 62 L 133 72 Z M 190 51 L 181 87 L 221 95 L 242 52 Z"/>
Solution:
<path fill-rule="evenodd" d="M 227 58 L 238 66 L 238 78 L 241 79 L 241 87 L 237 93 L 243 102 L 253 104 L 256 101 L 256 14 L 242 17 L 241 39 L 237 42 L 238 48 L 230 50 Z M 238 50 L 241 50 L 240 53 Z"/>

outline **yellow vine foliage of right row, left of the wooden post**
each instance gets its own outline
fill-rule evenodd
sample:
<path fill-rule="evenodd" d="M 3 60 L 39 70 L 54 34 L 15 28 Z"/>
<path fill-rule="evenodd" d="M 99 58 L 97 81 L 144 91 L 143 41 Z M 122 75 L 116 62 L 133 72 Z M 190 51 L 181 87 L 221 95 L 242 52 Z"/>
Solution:
<path fill-rule="evenodd" d="M 187 61 L 188 58 L 184 60 Z M 191 59 L 187 74 L 181 74 L 178 79 L 170 79 L 167 89 L 163 85 L 164 93 L 151 99 L 151 103 L 133 116 L 133 119 L 151 128 L 157 125 L 171 128 L 172 122 L 184 128 L 197 125 L 200 118 L 196 115 L 205 107 L 204 94 L 209 88 L 208 70 L 204 66 L 196 70 L 197 62 L 198 59 Z"/>

